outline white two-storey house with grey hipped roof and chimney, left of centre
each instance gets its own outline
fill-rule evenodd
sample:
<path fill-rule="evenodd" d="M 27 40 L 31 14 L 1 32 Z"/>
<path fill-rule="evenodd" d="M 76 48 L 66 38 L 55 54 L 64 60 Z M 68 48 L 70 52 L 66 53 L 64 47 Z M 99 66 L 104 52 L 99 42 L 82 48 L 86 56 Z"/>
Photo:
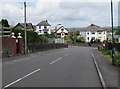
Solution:
<path fill-rule="evenodd" d="M 50 24 L 48 23 L 48 21 L 41 21 L 40 23 L 38 23 L 36 25 L 36 32 L 39 34 L 39 35 L 42 35 L 42 34 L 51 34 L 51 30 L 49 29 L 50 28 Z"/>

